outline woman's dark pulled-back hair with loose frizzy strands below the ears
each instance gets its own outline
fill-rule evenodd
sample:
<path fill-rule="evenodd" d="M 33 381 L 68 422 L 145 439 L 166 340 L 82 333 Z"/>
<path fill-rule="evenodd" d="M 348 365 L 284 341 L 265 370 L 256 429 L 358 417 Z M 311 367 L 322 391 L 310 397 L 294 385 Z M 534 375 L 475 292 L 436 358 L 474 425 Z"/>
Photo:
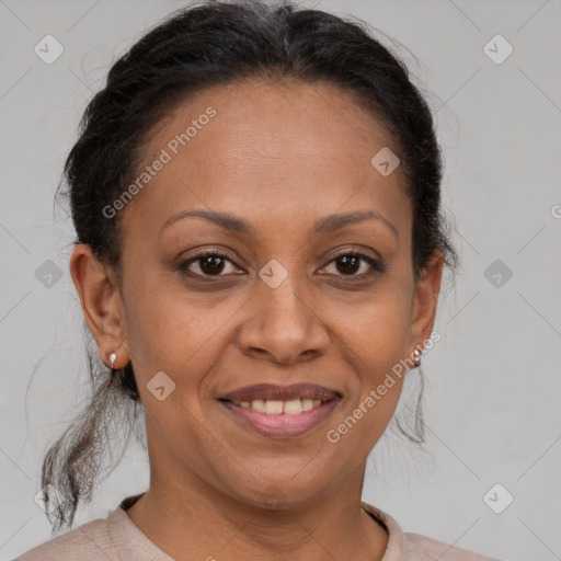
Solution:
<path fill-rule="evenodd" d="M 64 170 L 75 243 L 89 244 L 121 278 L 119 220 L 102 218 L 103 208 L 135 178 L 150 131 L 195 92 L 250 77 L 323 81 L 356 95 L 386 125 L 402 162 L 414 209 L 415 279 L 436 250 L 456 267 L 458 255 L 439 209 L 442 157 L 433 118 L 407 66 L 374 38 L 365 22 L 289 1 L 191 4 L 170 14 L 113 65 L 84 112 Z M 122 431 L 122 416 L 131 419 L 131 409 L 136 419 L 141 407 L 131 363 L 111 376 L 88 352 L 92 397 L 43 463 L 42 484 L 56 488 L 62 499 L 48 515 L 54 531 L 70 527 L 79 502 L 91 499 L 111 422 Z M 419 404 L 417 437 L 404 434 L 421 443 Z"/>

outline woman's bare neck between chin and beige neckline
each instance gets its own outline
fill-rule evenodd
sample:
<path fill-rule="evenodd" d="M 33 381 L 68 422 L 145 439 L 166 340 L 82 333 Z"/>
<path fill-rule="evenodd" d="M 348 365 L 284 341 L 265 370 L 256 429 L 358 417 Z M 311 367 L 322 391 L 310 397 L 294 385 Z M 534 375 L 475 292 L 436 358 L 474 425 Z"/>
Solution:
<path fill-rule="evenodd" d="M 151 477 L 127 511 L 131 522 L 176 561 L 287 559 L 380 561 L 387 530 L 360 508 L 364 470 L 336 492 L 290 508 L 255 507 L 192 477 Z M 181 482 L 181 483 L 179 483 Z"/>

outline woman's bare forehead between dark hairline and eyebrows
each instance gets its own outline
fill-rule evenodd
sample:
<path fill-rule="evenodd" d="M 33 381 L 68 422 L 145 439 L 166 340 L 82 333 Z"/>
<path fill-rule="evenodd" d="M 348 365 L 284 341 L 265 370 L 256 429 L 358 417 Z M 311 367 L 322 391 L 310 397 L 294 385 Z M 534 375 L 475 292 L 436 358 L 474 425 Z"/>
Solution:
<path fill-rule="evenodd" d="M 408 204 L 401 170 L 382 176 L 370 162 L 385 147 L 399 151 L 375 115 L 332 84 L 248 79 L 213 87 L 152 130 L 145 165 L 165 163 L 128 205 L 125 222 L 161 224 L 188 207 L 314 220 L 364 206 L 399 222 Z"/>

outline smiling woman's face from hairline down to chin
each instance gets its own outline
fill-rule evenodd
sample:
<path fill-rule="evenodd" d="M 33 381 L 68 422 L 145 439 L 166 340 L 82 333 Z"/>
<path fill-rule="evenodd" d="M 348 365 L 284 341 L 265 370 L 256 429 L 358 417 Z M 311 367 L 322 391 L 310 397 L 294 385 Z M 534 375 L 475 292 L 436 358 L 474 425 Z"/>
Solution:
<path fill-rule="evenodd" d="M 119 210 L 113 343 L 133 362 L 160 481 L 251 504 L 362 481 L 402 379 L 365 403 L 430 336 L 442 273 L 414 284 L 401 169 L 371 163 L 385 147 L 398 151 L 321 83 L 216 87 L 154 130 L 138 173 L 150 178 Z M 293 385 L 307 386 L 283 393 Z"/>

